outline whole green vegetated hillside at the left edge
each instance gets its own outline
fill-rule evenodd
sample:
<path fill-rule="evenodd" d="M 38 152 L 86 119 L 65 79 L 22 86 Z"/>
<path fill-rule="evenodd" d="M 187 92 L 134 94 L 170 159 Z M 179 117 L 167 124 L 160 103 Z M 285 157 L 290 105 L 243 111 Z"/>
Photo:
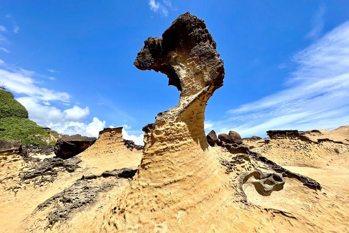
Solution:
<path fill-rule="evenodd" d="M 52 133 L 56 133 L 51 131 Z M 28 119 L 27 109 L 11 92 L 0 90 L 0 139 L 22 140 L 23 145 L 55 145 L 48 132 Z"/>

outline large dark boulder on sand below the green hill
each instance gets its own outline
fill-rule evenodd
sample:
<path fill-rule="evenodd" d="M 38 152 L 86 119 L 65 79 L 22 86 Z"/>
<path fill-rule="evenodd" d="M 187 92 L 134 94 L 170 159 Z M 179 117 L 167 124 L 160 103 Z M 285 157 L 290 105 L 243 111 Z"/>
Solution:
<path fill-rule="evenodd" d="M 86 137 L 80 134 L 61 137 L 54 147 L 54 152 L 58 158 L 68 159 L 86 150 L 96 140 L 95 137 Z"/>

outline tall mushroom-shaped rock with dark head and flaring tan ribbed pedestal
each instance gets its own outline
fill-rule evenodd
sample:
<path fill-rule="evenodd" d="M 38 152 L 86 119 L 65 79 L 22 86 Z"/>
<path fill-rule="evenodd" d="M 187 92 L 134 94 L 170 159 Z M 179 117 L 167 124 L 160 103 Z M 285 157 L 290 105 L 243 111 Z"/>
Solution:
<path fill-rule="evenodd" d="M 118 229 L 124 224 L 137 229 L 140 218 L 152 219 L 141 225 L 154 231 L 165 212 L 173 216 L 193 208 L 207 192 L 219 189 L 218 171 L 208 155 L 204 115 L 207 100 L 223 85 L 224 68 L 204 21 L 189 12 L 174 20 L 162 38 L 145 40 L 134 65 L 166 74 L 169 85 L 181 91 L 174 108 L 143 128 L 138 174 L 111 217 L 110 225 Z"/>

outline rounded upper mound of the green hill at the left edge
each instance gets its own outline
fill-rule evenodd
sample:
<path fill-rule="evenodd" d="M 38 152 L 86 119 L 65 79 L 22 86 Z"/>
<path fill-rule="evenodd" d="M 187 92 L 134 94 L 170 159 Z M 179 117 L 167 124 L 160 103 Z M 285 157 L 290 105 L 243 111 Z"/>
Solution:
<path fill-rule="evenodd" d="M 28 118 L 28 111 L 14 99 L 11 92 L 0 89 L 0 118 L 8 116 Z"/>

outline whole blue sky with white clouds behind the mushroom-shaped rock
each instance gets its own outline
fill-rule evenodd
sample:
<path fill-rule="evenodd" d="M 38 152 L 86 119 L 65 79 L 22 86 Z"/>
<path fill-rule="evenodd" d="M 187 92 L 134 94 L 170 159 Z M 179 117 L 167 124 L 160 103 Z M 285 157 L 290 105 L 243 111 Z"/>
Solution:
<path fill-rule="evenodd" d="M 40 125 L 85 135 L 124 126 L 140 144 L 142 127 L 179 92 L 133 61 L 146 38 L 186 11 L 205 20 L 224 61 L 207 133 L 349 124 L 346 0 L 2 0 L 0 84 Z"/>

